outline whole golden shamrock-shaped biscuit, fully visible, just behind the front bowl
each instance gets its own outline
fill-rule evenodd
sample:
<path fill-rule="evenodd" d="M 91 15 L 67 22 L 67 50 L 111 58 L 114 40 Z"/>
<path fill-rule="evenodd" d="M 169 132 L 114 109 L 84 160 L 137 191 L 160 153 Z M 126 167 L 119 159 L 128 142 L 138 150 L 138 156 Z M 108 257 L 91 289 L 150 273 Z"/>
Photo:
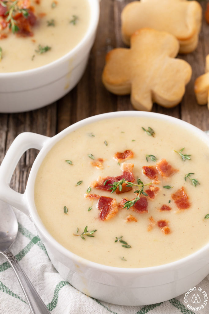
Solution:
<path fill-rule="evenodd" d="M 191 78 L 191 66 L 174 59 L 177 39 L 166 32 L 141 29 L 131 36 L 131 48 L 107 53 L 102 73 L 105 87 L 114 94 L 131 94 L 138 110 L 150 111 L 153 102 L 164 107 L 177 105 Z"/>

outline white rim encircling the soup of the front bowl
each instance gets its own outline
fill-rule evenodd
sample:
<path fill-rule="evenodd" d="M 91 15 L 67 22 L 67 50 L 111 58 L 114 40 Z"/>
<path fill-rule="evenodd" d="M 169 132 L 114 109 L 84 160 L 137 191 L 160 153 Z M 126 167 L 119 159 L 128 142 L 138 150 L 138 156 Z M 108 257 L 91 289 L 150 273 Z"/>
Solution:
<path fill-rule="evenodd" d="M 28 183 L 25 189 L 25 196 L 29 208 L 29 216 L 31 220 L 33 221 L 34 225 L 37 227 L 37 229 L 40 231 L 40 233 L 44 236 L 44 239 L 47 240 L 53 248 L 55 248 L 58 252 L 61 254 L 65 255 L 65 257 L 70 258 L 73 260 L 74 263 L 79 263 L 87 266 L 88 268 L 92 269 L 97 269 L 100 271 L 105 271 L 107 273 L 126 273 L 126 274 L 147 274 L 147 273 L 155 273 L 155 272 L 161 272 L 161 271 L 168 271 L 171 269 L 176 269 L 182 266 L 183 264 L 189 263 L 191 260 L 195 260 L 196 258 L 200 257 L 204 251 L 209 250 L 209 242 L 201 247 L 199 250 L 196 252 L 183 257 L 179 260 L 176 260 L 174 262 L 166 263 L 163 265 L 158 265 L 158 266 L 151 266 L 151 267 L 144 267 L 144 268 L 122 268 L 122 267 L 114 267 L 114 266 L 108 266 L 108 265 L 103 265 L 99 264 L 96 262 L 92 262 L 90 260 L 87 260 L 83 257 L 80 257 L 79 255 L 76 255 L 75 253 L 69 251 L 66 249 L 64 246 L 62 246 L 59 242 L 57 242 L 53 236 L 49 233 L 49 231 L 46 229 L 44 226 L 43 222 L 41 221 L 38 212 L 35 208 L 35 203 L 34 203 L 34 183 L 35 183 L 35 178 L 37 175 L 37 171 L 44 160 L 45 155 L 50 151 L 50 149 L 57 143 L 61 138 L 65 137 L 65 135 L 73 132 L 77 128 L 83 127 L 89 123 L 93 123 L 96 121 L 100 120 L 105 120 L 109 118 L 115 118 L 115 117 L 130 117 L 130 116 L 139 116 L 139 117 L 153 117 L 153 118 L 159 118 L 159 120 L 165 120 L 165 121 L 170 121 L 174 122 L 176 125 L 182 125 L 187 128 L 187 130 L 191 130 L 191 133 L 196 133 L 198 137 L 201 137 L 201 139 L 208 143 L 209 146 L 209 136 L 204 133 L 202 130 L 199 128 L 195 127 L 194 125 L 185 122 L 183 120 L 180 120 L 178 118 L 172 117 L 172 116 L 167 116 L 164 114 L 160 113 L 155 113 L 155 112 L 147 112 L 147 111 L 113 111 L 113 112 L 108 112 L 108 113 L 103 113 L 95 116 L 90 116 L 86 119 L 83 119 L 81 121 L 78 121 L 71 126 L 65 128 L 62 130 L 60 133 L 56 134 L 52 138 L 49 138 L 47 143 L 44 145 L 44 147 L 40 150 L 38 156 L 36 157 L 34 164 L 31 168 L 29 178 L 28 178 Z M 32 210 L 31 210 L 32 208 Z"/>

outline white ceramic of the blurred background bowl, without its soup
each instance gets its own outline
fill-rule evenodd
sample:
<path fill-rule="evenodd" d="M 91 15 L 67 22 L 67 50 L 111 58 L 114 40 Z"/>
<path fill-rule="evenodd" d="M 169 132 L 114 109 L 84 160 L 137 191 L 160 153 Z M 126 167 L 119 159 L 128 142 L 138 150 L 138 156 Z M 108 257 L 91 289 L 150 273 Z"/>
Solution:
<path fill-rule="evenodd" d="M 86 68 L 99 20 L 99 1 L 87 1 L 90 23 L 82 40 L 70 52 L 39 68 L 0 73 L 0 112 L 40 108 L 61 98 L 78 83 Z"/>

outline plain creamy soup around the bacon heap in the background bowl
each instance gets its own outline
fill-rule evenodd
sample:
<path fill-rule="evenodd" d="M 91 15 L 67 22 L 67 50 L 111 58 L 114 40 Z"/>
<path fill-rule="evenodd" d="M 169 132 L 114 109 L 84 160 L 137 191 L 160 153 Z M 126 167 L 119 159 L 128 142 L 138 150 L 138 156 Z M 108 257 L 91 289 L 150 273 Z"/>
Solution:
<path fill-rule="evenodd" d="M 31 0 L 30 3 L 37 17 L 31 27 L 33 36 L 0 29 L 0 35 L 8 35 L 0 40 L 0 73 L 29 70 L 55 61 L 74 48 L 86 33 L 90 20 L 87 0 Z M 50 50 L 40 53 L 39 45 Z"/>

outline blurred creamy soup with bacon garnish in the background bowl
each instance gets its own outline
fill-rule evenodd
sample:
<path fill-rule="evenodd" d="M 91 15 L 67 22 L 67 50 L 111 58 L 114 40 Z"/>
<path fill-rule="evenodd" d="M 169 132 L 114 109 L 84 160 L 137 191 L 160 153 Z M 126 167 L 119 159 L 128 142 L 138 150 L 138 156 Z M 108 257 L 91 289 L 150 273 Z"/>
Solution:
<path fill-rule="evenodd" d="M 89 20 L 87 0 L 0 1 L 0 73 L 64 56 L 81 41 Z"/>

